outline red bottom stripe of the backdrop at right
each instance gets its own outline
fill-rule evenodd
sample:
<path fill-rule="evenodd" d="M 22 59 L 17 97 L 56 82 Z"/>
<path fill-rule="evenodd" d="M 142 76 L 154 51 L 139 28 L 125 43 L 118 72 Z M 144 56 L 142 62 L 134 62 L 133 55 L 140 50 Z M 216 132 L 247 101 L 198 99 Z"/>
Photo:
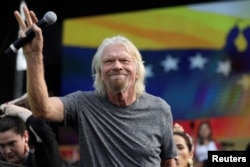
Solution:
<path fill-rule="evenodd" d="M 211 122 L 213 136 L 216 139 L 250 138 L 249 116 L 232 116 L 197 120 L 175 120 L 174 122 L 182 125 L 187 133 L 195 137 L 197 134 L 198 125 L 203 120 L 209 120 Z"/>

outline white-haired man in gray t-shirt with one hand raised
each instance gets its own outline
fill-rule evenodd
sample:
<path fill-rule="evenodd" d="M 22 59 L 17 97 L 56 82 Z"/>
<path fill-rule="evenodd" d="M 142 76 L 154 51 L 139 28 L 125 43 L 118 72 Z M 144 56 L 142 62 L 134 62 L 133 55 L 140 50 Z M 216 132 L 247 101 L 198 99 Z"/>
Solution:
<path fill-rule="evenodd" d="M 50 97 L 44 78 L 43 36 L 33 11 L 24 7 L 27 26 L 14 15 L 20 35 L 32 28 L 33 40 L 23 46 L 27 90 L 33 113 L 64 122 L 79 137 L 80 166 L 175 167 L 170 106 L 145 92 L 145 67 L 134 44 L 123 36 L 103 40 L 92 61 L 95 91 Z M 83 83 L 84 84 L 84 83 Z"/>

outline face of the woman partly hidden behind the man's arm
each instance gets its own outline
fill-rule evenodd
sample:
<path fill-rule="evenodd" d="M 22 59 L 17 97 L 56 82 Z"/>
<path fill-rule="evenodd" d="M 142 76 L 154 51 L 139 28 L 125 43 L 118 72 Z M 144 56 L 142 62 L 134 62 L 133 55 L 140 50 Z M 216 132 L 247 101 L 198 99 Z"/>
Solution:
<path fill-rule="evenodd" d="M 174 135 L 174 142 L 177 148 L 176 166 L 187 167 L 188 160 L 193 158 L 193 152 L 188 150 L 186 141 L 179 135 Z"/>

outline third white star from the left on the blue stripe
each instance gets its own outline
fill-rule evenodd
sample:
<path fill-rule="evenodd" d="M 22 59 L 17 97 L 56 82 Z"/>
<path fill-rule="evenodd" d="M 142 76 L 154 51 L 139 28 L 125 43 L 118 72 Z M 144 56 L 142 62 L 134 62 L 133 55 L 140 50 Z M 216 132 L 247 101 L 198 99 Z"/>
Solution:
<path fill-rule="evenodd" d="M 200 70 L 204 69 L 205 63 L 207 63 L 207 59 L 202 57 L 200 53 L 197 53 L 195 56 L 189 58 L 190 61 L 190 68 L 195 69 L 198 68 Z"/>

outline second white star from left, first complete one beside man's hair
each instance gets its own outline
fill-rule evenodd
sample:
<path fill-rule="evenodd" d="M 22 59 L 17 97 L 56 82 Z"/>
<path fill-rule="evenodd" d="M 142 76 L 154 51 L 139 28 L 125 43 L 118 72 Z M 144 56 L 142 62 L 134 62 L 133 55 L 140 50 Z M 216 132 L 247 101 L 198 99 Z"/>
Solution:
<path fill-rule="evenodd" d="M 161 61 L 161 65 L 164 68 L 165 72 L 169 72 L 171 70 L 177 71 L 178 70 L 178 58 L 173 58 L 171 55 L 167 55 L 165 60 Z"/>

